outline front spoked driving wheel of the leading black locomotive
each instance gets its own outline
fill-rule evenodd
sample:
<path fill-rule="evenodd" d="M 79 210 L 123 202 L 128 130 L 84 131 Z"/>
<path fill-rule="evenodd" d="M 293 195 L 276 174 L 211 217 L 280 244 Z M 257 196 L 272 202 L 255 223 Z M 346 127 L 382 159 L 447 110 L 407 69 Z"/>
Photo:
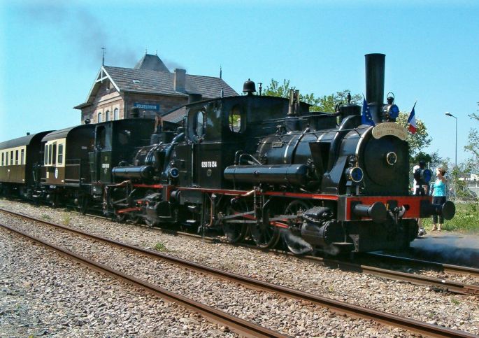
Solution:
<path fill-rule="evenodd" d="M 285 209 L 285 215 L 297 215 L 302 216 L 303 213 L 311 208 L 311 204 L 296 199 L 293 202 L 289 203 Z M 304 255 L 305 253 L 310 253 L 313 251 L 313 246 L 311 246 L 307 241 L 301 238 L 301 220 L 288 220 L 287 221 L 289 228 L 282 231 L 283 241 L 285 245 L 294 253 L 294 255 Z"/>

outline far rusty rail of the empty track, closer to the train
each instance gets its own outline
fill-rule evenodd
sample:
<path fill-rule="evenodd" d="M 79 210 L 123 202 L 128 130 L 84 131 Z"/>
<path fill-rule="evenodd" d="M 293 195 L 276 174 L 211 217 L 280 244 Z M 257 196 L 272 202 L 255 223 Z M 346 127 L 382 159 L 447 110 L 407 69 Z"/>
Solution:
<path fill-rule="evenodd" d="M 3 209 L 0 209 L 0 211 L 3 211 Z M 227 279 L 229 281 L 234 281 L 236 283 L 240 283 L 243 286 L 247 286 L 248 288 L 266 290 L 268 292 L 276 293 L 276 294 L 283 295 L 285 297 L 293 298 L 293 299 L 296 299 L 296 300 L 303 300 L 303 301 L 311 302 L 313 304 L 320 305 L 321 307 L 327 307 L 328 309 L 331 309 L 332 311 L 338 312 L 340 314 L 347 314 L 347 315 L 350 315 L 350 316 L 354 316 L 356 318 L 364 318 L 364 319 L 368 319 L 368 320 L 373 320 L 373 321 L 376 321 L 378 323 L 382 323 L 382 324 L 385 324 L 385 325 L 390 325 L 390 326 L 393 326 L 393 327 L 396 327 L 396 328 L 403 328 L 403 329 L 406 329 L 406 330 L 410 330 L 412 332 L 417 332 L 417 333 L 421 333 L 423 335 L 430 335 L 430 336 L 434 336 L 434 337 L 475 337 L 474 335 L 472 335 L 468 332 L 459 331 L 459 330 L 452 330 L 452 329 L 449 329 L 449 328 L 443 328 L 443 327 L 438 326 L 438 325 L 423 323 L 421 321 L 416 321 L 416 320 L 413 320 L 413 319 L 410 319 L 410 318 L 403 318 L 401 316 L 396 316 L 396 315 L 393 315 L 393 314 L 387 314 L 387 313 L 382 312 L 382 311 L 376 311 L 376 310 L 368 309 L 368 308 L 365 308 L 365 307 L 359 307 L 357 305 L 349 304 L 347 302 L 331 300 L 331 299 L 326 298 L 326 297 L 321 297 L 321 296 L 318 296 L 318 295 L 312 295 L 312 294 L 309 294 L 309 293 L 304 293 L 304 292 L 301 292 L 301 291 L 298 291 L 298 290 L 293 290 L 291 288 L 278 286 L 278 285 L 275 285 L 273 283 L 268 283 L 268 282 L 259 281 L 259 280 L 256 280 L 256 279 L 251 279 L 249 277 L 241 276 L 241 275 L 238 275 L 238 274 L 233 274 L 233 273 L 230 273 L 230 272 L 224 272 L 220 269 L 206 267 L 204 265 L 199 265 L 198 263 L 195 263 L 195 262 L 190 262 L 190 261 L 183 260 L 183 259 L 180 259 L 180 258 L 175 258 L 173 256 L 165 255 L 163 253 L 158 253 L 156 251 L 150 251 L 148 249 L 138 248 L 136 246 L 130 246 L 129 244 L 124 244 L 122 242 L 114 241 L 112 239 L 99 237 L 99 236 L 96 236 L 94 234 L 88 234 L 87 232 L 83 232 L 83 231 L 80 231 L 80 230 L 75 230 L 75 229 L 72 229 L 70 227 L 65 227 L 63 225 L 58 225 L 58 224 L 55 224 L 55 223 L 50 223 L 50 222 L 47 222 L 45 220 L 40 220 L 40 219 L 37 219 L 37 218 L 32 218 L 30 216 L 25 216 L 25 215 L 22 215 L 22 214 L 13 213 L 11 211 L 5 211 L 5 212 L 8 212 L 8 213 L 10 213 L 10 215 L 13 215 L 13 216 L 25 218 L 29 221 L 33 220 L 35 222 L 43 223 L 45 225 L 50 225 L 50 226 L 53 226 L 53 227 L 57 227 L 59 229 L 62 229 L 62 230 L 68 231 L 68 232 L 73 232 L 75 234 L 80 234 L 84 237 L 89 237 L 89 238 L 95 239 L 97 241 L 103 241 L 103 242 L 106 242 L 108 244 L 113 244 L 115 246 L 119 246 L 119 247 L 122 247 L 122 248 L 128 248 L 131 251 L 135 251 L 137 253 L 142 253 L 143 255 L 148 255 L 150 257 L 154 257 L 154 258 L 159 259 L 159 260 L 164 260 L 164 261 L 176 264 L 176 265 L 181 265 L 183 267 L 186 267 L 187 269 L 193 269 L 193 270 L 196 270 L 196 271 L 200 271 L 203 274 L 210 274 L 210 275 L 213 275 L 213 276 L 220 277 L 221 279 Z M 2 226 L 5 227 L 4 225 L 2 225 Z M 15 230 L 12 230 L 12 231 L 15 231 Z M 26 235 L 26 234 L 24 234 L 24 235 Z M 50 244 L 47 244 L 46 242 L 44 242 L 43 245 L 49 246 L 50 248 L 53 248 L 54 250 L 59 249 L 59 248 L 57 249 L 56 247 L 54 247 Z M 62 252 L 64 252 L 64 250 L 62 250 Z M 67 253 L 64 253 L 64 254 L 67 254 Z M 78 255 L 73 254 L 73 256 L 78 256 Z M 81 257 L 73 257 L 73 258 L 76 259 L 76 260 L 79 260 L 79 261 L 83 262 L 83 264 L 86 264 L 86 265 L 89 265 L 89 266 L 92 264 L 92 262 L 89 262 L 88 260 L 85 260 L 85 258 L 81 258 Z M 97 267 L 96 265 L 94 267 L 94 269 L 99 269 L 99 268 L 100 267 Z M 103 269 L 103 267 L 101 267 L 101 268 Z M 108 268 L 108 269 L 110 269 L 110 268 Z M 129 283 L 134 283 L 135 285 L 138 284 L 137 279 L 135 279 L 131 276 L 124 275 L 121 272 L 116 272 L 113 269 L 110 269 L 110 270 L 113 271 L 113 272 L 110 271 L 110 272 L 108 272 L 109 274 L 114 274 L 114 276 L 116 276 L 117 278 L 129 281 Z M 157 288 L 157 287 L 152 286 L 152 284 L 149 284 L 148 282 L 143 284 L 143 286 L 141 286 L 141 287 L 145 288 L 145 290 L 150 290 L 150 292 L 153 292 L 153 293 L 160 293 L 160 292 L 163 293 L 164 292 L 163 290 L 156 290 L 155 288 Z M 155 288 L 152 288 L 152 287 L 155 287 Z M 170 295 L 165 294 L 164 297 L 170 297 Z M 188 305 L 185 305 L 185 306 L 188 306 Z M 196 311 L 199 311 L 199 312 L 200 311 L 206 311 L 206 314 L 209 315 L 212 310 L 208 309 L 208 310 L 196 310 Z M 200 312 L 200 313 L 203 314 L 203 312 Z M 224 315 L 221 315 L 220 317 L 223 318 Z M 218 320 L 217 318 L 213 319 L 213 321 L 217 321 L 217 320 Z M 222 323 L 224 323 L 224 322 L 222 322 Z M 232 328 L 236 328 L 235 325 L 245 325 L 245 323 L 228 324 L 228 326 L 229 325 L 231 325 Z M 241 326 L 241 328 L 238 328 L 236 330 L 238 330 L 238 332 L 241 332 L 241 330 L 245 330 L 244 332 L 251 332 L 250 330 L 252 330 L 252 329 L 243 329 L 243 326 Z M 259 329 L 256 328 L 255 330 L 259 330 Z M 280 337 L 280 336 L 277 336 L 277 334 L 278 334 L 278 332 L 266 332 L 266 335 L 261 336 L 261 337 Z M 257 336 L 257 337 L 259 337 L 259 336 Z"/>

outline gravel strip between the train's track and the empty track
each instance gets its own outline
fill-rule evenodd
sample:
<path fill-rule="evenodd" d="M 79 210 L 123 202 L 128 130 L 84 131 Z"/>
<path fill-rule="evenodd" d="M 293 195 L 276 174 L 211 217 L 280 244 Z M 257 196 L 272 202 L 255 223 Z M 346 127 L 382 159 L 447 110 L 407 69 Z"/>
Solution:
<path fill-rule="evenodd" d="M 129 244 L 150 248 L 161 244 L 164 251 L 171 255 L 205 265 L 238 274 L 248 274 L 257 279 L 336 300 L 479 334 L 478 296 L 441 293 L 434 288 L 412 286 L 408 283 L 387 281 L 376 276 L 329 269 L 285 255 L 174 237 L 144 227 L 86 218 L 76 213 L 52 210 L 47 207 L 35 207 L 6 200 L 1 200 L 0 206 L 38 218 L 49 217 L 57 223 L 69 223 L 70 226 Z M 430 272 L 430 274 L 437 273 Z M 367 332 L 379 336 L 395 334 L 394 332 L 378 333 L 377 329 L 371 328 L 364 330 L 360 335 L 364 336 Z M 336 333 L 336 331 L 323 332 L 322 335 L 336 335 Z M 352 335 L 355 334 L 352 333 Z"/>

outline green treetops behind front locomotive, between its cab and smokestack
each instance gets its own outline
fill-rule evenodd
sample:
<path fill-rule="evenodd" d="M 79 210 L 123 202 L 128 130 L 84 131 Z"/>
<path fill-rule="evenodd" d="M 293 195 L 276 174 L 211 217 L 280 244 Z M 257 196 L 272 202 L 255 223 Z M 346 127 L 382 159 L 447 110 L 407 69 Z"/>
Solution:
<path fill-rule="evenodd" d="M 283 85 L 274 79 L 271 79 L 271 83 L 266 86 L 263 93 L 266 96 L 272 97 L 289 97 L 289 90 L 295 90 L 296 87 L 289 85 L 289 80 L 283 80 Z M 324 95 L 323 97 L 315 97 L 315 94 L 301 94 L 299 93 L 299 99 L 307 104 L 310 104 L 310 111 L 324 111 L 327 113 L 334 113 L 337 104 L 348 104 L 349 90 L 343 90 L 342 92 L 336 92 L 336 94 Z M 359 104 L 362 101 L 360 94 L 353 94 L 351 97 L 352 104 Z"/>

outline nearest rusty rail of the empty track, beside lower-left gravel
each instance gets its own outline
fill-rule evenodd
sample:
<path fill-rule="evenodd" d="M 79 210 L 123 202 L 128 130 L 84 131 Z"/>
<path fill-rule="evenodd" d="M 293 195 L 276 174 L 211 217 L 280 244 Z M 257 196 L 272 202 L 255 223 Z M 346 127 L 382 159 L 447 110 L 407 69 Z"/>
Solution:
<path fill-rule="evenodd" d="M 251 323 L 249 321 L 245 321 L 242 318 L 231 316 L 230 314 L 227 314 L 226 312 L 215 309 L 213 307 L 208 307 L 205 304 L 201 304 L 200 302 L 196 302 L 182 295 L 172 293 L 169 290 L 160 288 L 159 286 L 155 286 L 154 284 L 148 283 L 147 281 L 143 281 L 141 279 L 135 278 L 134 276 L 129 276 L 127 274 L 124 274 L 123 272 L 117 271 L 115 269 L 111 269 L 110 267 L 107 267 L 106 265 L 103 265 L 99 262 L 94 262 L 93 260 L 84 258 L 81 255 L 77 255 L 76 253 L 72 253 L 71 251 L 60 248 L 59 246 L 50 244 L 47 241 L 43 241 L 42 239 L 38 239 L 37 237 L 31 236 L 25 232 L 16 230 L 13 227 L 9 227 L 8 225 L 3 225 L 2 223 L 0 223 L 0 226 L 7 230 L 10 230 L 11 232 L 15 232 L 16 234 L 21 234 L 22 236 L 27 237 L 28 239 L 38 244 L 41 244 L 45 246 L 46 248 L 50 248 L 53 251 L 57 251 L 57 253 L 64 255 L 66 258 L 76 260 L 77 262 L 80 262 L 81 264 L 86 265 L 87 267 L 90 267 L 103 274 L 106 274 L 108 276 L 113 276 L 116 279 L 120 279 L 133 286 L 142 288 L 143 290 L 149 293 L 153 293 L 154 295 L 157 295 L 159 297 L 162 297 L 165 300 L 168 300 L 169 302 L 175 302 L 177 304 L 180 304 L 183 307 L 186 307 L 187 309 L 190 309 L 192 311 L 195 311 L 201 314 L 201 316 L 207 318 L 210 322 L 220 324 L 220 325 L 226 325 L 228 328 L 238 333 L 238 335 L 241 335 L 244 337 L 287 337 L 285 335 L 280 334 L 279 332 L 269 330 L 255 323 Z"/>

